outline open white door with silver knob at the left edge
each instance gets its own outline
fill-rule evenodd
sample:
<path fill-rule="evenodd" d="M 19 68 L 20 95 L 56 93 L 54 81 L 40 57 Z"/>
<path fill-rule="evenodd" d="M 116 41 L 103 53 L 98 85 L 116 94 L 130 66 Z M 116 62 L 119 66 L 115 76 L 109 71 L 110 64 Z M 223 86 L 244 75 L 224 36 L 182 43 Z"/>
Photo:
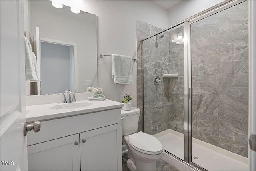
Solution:
<path fill-rule="evenodd" d="M 0 170 L 27 170 L 23 1 L 0 1 Z"/>

